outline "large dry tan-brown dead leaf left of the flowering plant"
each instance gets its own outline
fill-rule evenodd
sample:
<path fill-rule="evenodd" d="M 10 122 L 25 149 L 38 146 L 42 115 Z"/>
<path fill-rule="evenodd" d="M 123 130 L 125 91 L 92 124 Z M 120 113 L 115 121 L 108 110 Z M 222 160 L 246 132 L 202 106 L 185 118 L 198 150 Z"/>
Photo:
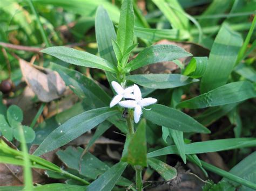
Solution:
<path fill-rule="evenodd" d="M 57 72 L 31 65 L 23 59 L 19 59 L 19 66 L 26 83 L 40 101 L 50 102 L 64 93 L 65 82 Z"/>

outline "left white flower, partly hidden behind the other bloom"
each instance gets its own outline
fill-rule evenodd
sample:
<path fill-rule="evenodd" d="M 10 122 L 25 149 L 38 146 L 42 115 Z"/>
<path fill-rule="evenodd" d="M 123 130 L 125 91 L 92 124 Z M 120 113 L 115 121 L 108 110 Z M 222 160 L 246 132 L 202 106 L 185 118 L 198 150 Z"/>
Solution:
<path fill-rule="evenodd" d="M 134 99 L 133 86 L 128 88 L 123 88 L 119 83 L 112 81 L 111 82 L 114 91 L 116 91 L 117 95 L 113 97 L 113 100 L 110 102 L 110 107 L 112 108 L 114 105 L 118 104 L 123 98 Z"/>

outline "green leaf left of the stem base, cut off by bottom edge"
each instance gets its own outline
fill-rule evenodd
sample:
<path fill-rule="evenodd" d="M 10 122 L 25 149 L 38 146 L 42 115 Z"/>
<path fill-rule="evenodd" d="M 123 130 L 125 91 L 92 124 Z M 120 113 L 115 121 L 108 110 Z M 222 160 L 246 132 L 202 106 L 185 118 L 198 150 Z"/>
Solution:
<path fill-rule="evenodd" d="M 124 169 L 126 168 L 126 162 L 118 162 L 116 165 L 112 166 L 104 174 L 100 175 L 99 178 L 93 181 L 87 188 L 86 191 L 95 190 L 112 190 Z"/>

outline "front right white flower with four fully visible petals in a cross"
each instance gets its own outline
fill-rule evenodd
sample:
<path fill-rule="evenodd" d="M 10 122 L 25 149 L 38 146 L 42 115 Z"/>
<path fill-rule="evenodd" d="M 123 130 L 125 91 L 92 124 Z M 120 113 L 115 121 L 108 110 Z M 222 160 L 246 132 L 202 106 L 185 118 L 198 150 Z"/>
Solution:
<path fill-rule="evenodd" d="M 142 98 L 142 93 L 139 87 L 134 84 L 134 100 L 125 100 L 119 102 L 119 105 L 125 108 L 134 108 L 134 122 L 138 123 L 139 118 L 142 115 L 142 108 L 157 102 L 157 99 L 152 97 Z"/>

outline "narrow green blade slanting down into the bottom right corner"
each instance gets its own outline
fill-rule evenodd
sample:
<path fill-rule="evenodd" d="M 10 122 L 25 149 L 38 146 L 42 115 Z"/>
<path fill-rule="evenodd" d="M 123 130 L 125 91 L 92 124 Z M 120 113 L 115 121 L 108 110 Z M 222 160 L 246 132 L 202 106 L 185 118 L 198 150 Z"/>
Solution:
<path fill-rule="evenodd" d="M 218 174 L 220 176 L 223 176 L 223 177 L 225 177 L 227 179 L 230 179 L 230 180 L 232 180 L 234 182 L 240 183 L 241 185 L 247 186 L 247 187 L 252 188 L 252 189 L 256 189 L 256 184 L 253 183 L 253 182 L 250 182 L 248 180 L 242 179 L 239 176 L 236 176 L 236 175 L 234 175 L 234 174 L 232 174 L 230 172 L 226 172 L 223 169 L 217 168 L 217 167 L 215 167 L 213 165 L 210 165 L 207 162 L 204 162 L 202 160 L 201 160 L 201 164 L 208 171 L 214 172 L 214 173 L 216 173 L 216 174 Z"/>

